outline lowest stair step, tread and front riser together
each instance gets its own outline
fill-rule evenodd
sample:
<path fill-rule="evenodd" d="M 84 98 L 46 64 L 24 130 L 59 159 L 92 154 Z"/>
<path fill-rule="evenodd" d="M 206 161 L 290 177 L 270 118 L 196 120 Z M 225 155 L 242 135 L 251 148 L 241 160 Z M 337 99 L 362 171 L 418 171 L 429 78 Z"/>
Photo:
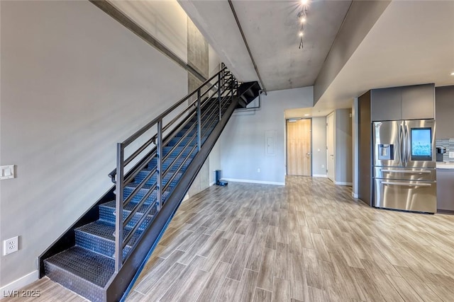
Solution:
<path fill-rule="evenodd" d="M 45 274 L 90 301 L 104 301 L 104 286 L 114 274 L 115 261 L 74 246 L 44 260 Z"/>

